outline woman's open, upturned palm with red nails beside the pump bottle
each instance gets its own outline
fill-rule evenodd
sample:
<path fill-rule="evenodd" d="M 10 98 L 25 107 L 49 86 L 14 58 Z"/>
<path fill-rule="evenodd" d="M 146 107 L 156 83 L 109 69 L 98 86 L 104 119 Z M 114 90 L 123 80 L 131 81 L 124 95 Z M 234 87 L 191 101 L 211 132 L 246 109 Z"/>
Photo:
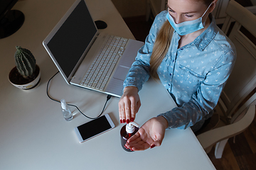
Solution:
<path fill-rule="evenodd" d="M 138 132 L 127 140 L 125 147 L 132 151 L 145 150 L 159 147 L 164 139 L 164 133 L 168 127 L 167 120 L 163 116 L 151 118 L 146 121 Z"/>

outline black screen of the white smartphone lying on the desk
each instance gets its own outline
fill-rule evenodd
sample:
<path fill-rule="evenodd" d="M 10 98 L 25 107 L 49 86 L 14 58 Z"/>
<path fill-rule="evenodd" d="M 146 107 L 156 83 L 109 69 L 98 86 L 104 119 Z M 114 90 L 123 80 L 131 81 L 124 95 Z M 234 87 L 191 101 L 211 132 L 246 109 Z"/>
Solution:
<path fill-rule="evenodd" d="M 109 119 L 107 119 L 106 116 Z M 85 141 L 90 137 L 94 137 L 101 134 L 102 132 L 112 129 L 113 127 L 112 125 L 110 125 L 111 122 L 112 121 L 108 115 L 103 115 L 100 118 L 91 120 L 88 123 L 78 126 L 78 131 L 80 133 L 80 136 L 82 137 L 82 140 Z"/>

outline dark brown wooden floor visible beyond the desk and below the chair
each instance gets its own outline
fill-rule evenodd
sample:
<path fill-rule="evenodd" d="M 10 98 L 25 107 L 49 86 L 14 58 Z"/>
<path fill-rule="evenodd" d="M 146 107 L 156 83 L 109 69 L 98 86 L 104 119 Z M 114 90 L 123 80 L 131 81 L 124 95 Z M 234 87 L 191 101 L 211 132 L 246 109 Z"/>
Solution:
<path fill-rule="evenodd" d="M 144 41 L 152 21 L 146 22 L 145 16 L 124 18 L 127 26 L 137 40 Z M 208 154 L 217 170 L 255 170 L 256 169 L 256 118 L 245 132 L 228 140 L 223 157 L 215 159 L 214 149 Z"/>

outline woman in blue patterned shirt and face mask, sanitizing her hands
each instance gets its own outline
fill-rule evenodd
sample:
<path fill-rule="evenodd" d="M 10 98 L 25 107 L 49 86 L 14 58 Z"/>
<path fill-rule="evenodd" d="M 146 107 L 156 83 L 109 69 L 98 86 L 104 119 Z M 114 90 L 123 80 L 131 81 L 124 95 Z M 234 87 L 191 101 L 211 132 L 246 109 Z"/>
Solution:
<path fill-rule="evenodd" d="M 235 46 L 216 26 L 218 0 L 168 0 L 139 50 L 119 101 L 120 123 L 133 121 L 141 105 L 138 91 L 151 76 L 160 79 L 178 107 L 148 120 L 126 147 L 160 146 L 166 128 L 196 131 L 213 115 L 235 63 Z"/>

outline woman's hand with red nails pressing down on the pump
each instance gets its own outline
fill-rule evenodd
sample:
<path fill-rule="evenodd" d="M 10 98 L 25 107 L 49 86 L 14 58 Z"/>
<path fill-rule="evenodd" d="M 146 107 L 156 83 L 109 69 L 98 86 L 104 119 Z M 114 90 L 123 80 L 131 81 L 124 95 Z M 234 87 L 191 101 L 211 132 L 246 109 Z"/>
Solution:
<path fill-rule="evenodd" d="M 141 106 L 138 92 L 135 86 L 127 86 L 124 88 L 124 94 L 121 96 L 118 103 L 120 123 L 134 121 L 135 115 Z"/>

